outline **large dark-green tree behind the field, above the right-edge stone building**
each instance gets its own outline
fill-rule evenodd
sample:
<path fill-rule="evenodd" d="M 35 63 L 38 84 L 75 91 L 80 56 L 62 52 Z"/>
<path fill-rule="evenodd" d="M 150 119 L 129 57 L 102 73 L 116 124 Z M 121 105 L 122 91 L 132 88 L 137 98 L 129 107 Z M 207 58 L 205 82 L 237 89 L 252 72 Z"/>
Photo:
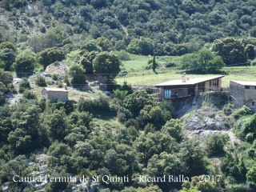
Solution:
<path fill-rule="evenodd" d="M 235 38 L 222 38 L 214 41 L 212 50 L 222 57 L 226 66 L 244 64 L 246 62 L 245 47 Z"/>

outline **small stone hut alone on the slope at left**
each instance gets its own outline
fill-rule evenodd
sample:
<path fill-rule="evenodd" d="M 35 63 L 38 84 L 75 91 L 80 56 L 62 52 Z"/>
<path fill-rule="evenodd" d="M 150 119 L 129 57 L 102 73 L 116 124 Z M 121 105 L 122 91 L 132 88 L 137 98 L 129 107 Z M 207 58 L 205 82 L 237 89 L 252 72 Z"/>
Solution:
<path fill-rule="evenodd" d="M 49 88 L 45 87 L 42 89 L 42 97 L 55 102 L 59 99 L 62 102 L 69 100 L 69 91 L 67 90 L 66 84 L 63 85 L 63 88 Z"/>

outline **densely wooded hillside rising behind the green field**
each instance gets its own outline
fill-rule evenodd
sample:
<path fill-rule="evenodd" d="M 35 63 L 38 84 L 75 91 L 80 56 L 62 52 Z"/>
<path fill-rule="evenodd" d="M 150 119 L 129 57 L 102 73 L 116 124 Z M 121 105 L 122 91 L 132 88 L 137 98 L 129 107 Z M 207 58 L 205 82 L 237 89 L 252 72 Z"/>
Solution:
<path fill-rule="evenodd" d="M 103 50 L 181 55 L 217 38 L 256 37 L 253 0 L 4 0 L 1 7 L 0 38 L 35 52 L 104 37 Z"/>

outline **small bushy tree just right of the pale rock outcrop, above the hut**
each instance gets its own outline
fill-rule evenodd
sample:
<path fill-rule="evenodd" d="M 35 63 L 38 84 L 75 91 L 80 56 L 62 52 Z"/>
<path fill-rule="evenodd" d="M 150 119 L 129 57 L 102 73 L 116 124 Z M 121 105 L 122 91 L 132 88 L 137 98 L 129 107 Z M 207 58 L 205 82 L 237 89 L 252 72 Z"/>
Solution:
<path fill-rule="evenodd" d="M 86 84 L 85 72 L 86 71 L 82 68 L 81 65 L 74 64 L 70 66 L 69 74 L 72 77 L 72 80 L 71 80 L 72 86 Z"/>

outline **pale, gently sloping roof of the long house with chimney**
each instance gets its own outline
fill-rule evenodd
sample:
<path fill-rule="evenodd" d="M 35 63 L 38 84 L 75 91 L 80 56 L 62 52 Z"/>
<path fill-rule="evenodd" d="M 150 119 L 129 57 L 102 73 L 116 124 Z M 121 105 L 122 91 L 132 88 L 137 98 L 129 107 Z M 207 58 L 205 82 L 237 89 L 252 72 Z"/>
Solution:
<path fill-rule="evenodd" d="M 218 75 L 218 76 L 212 76 L 212 77 L 206 77 L 206 78 L 191 78 L 190 80 L 187 80 L 186 82 L 182 82 L 182 79 L 178 80 L 172 80 L 169 82 L 162 82 L 155 86 L 189 86 L 189 85 L 195 85 L 200 82 L 207 82 L 215 78 L 223 78 L 224 75 Z"/>

